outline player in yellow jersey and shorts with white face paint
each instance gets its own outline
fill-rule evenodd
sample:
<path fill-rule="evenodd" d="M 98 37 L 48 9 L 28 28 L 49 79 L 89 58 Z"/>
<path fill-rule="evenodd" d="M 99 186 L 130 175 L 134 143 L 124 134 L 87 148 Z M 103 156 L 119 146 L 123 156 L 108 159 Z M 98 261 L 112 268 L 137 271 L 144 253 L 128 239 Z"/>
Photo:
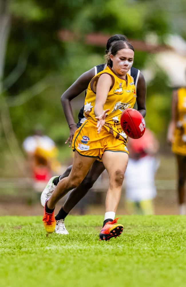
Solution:
<path fill-rule="evenodd" d="M 123 226 L 115 224 L 117 219 L 114 220 L 128 163 L 126 136 L 120 127 L 120 116 L 124 109 L 132 108 L 136 101 L 134 80 L 127 74 L 133 58 L 134 49 L 130 43 L 116 42 L 108 55 L 108 67 L 88 85 L 84 106 L 87 120 L 74 134 L 72 170 L 68 177 L 60 180 L 45 203 L 43 222 L 48 233 L 55 230 L 56 203 L 82 182 L 96 158 L 102 159 L 109 174 L 106 213 L 100 240 L 109 240 L 122 233 Z"/>

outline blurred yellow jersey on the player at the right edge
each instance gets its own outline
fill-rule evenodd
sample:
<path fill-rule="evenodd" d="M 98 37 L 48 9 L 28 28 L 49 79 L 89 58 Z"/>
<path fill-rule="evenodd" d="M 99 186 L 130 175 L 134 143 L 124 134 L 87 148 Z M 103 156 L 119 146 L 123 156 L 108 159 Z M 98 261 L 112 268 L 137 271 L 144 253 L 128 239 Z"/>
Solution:
<path fill-rule="evenodd" d="M 178 89 L 177 97 L 177 124 L 172 151 L 186 156 L 186 88 Z"/>

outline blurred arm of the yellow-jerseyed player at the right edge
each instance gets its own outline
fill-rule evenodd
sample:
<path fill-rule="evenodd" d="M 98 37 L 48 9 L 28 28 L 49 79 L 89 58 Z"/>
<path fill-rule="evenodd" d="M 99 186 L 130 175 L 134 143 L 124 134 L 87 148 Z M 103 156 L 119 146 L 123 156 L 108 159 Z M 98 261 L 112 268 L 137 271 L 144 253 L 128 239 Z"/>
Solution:
<path fill-rule="evenodd" d="M 171 103 L 171 121 L 169 123 L 167 132 L 167 141 L 169 144 L 173 144 L 174 131 L 176 128 L 176 110 L 177 110 L 178 96 L 177 91 L 173 91 L 172 103 Z"/>

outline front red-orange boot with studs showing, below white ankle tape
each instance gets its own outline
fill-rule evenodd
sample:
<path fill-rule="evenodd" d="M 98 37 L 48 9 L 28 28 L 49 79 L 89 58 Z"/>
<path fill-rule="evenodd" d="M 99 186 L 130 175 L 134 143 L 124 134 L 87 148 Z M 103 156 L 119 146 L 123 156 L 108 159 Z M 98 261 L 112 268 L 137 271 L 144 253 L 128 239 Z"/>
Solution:
<path fill-rule="evenodd" d="M 117 236 L 120 236 L 123 231 L 123 225 L 114 224 L 118 222 L 118 219 L 119 218 L 116 218 L 113 221 L 106 222 L 106 224 L 101 229 L 99 240 L 109 241 L 112 237 L 116 238 Z"/>

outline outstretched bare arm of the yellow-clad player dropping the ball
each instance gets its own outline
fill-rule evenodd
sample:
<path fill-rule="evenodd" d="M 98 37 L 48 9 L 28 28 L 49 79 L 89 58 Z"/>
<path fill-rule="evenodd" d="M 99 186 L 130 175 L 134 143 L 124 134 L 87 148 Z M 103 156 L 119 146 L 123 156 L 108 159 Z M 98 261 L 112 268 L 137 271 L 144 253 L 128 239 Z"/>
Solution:
<path fill-rule="evenodd" d="M 104 104 L 106 102 L 110 87 L 112 86 L 112 77 L 108 74 L 100 75 L 96 87 L 96 102 L 94 107 L 94 115 L 98 120 L 97 128 L 98 133 L 100 133 L 102 126 L 105 124 L 105 116 L 109 111 L 103 110 Z"/>

